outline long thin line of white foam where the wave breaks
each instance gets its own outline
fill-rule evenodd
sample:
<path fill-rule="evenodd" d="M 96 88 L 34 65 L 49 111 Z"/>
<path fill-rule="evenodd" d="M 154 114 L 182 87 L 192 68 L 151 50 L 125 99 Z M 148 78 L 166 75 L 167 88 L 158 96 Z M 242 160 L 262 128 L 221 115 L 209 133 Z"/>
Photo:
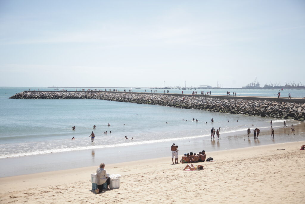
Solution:
<path fill-rule="evenodd" d="M 300 124 L 300 122 L 298 124 Z M 282 127 L 282 125 L 281 126 L 274 126 L 274 128 L 276 128 L 276 127 Z M 262 129 L 263 128 L 269 128 L 269 126 L 268 127 L 260 127 L 260 128 L 262 128 Z M 242 129 L 231 130 L 231 131 L 221 132 L 221 133 L 222 134 L 223 133 L 232 133 L 232 132 L 239 132 L 239 131 L 246 131 L 246 130 L 247 130 L 247 128 L 242 128 Z M 190 136 L 190 137 L 148 140 L 148 141 L 142 141 L 142 142 L 120 143 L 120 144 L 113 144 L 113 145 L 98 145 L 98 146 L 86 146 L 86 147 L 70 147 L 70 148 L 65 148 L 65 149 L 39 150 L 39 151 L 34 151 L 34 152 L 24 152 L 24 153 L 17 153 L 17 154 L 0 155 L 0 158 L 22 157 L 22 156 L 31 156 L 31 155 L 38 155 L 38 154 L 49 154 L 49 153 L 59 153 L 59 152 L 88 150 L 88 149 L 126 147 L 126 146 L 132 146 L 132 145 L 151 144 L 151 143 L 167 142 L 167 141 L 173 141 L 173 140 L 176 141 L 176 140 L 183 140 L 183 139 L 194 139 L 194 138 L 208 137 L 208 136 L 210 136 L 210 135 L 196 135 L 196 136 Z"/>

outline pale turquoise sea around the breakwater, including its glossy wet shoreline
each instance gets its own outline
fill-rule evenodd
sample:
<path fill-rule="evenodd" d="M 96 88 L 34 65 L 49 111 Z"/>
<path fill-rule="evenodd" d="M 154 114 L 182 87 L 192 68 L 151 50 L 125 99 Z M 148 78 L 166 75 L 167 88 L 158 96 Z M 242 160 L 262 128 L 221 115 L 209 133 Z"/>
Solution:
<path fill-rule="evenodd" d="M 38 88 L 53 90 L 30 87 L 31 90 Z M 226 150 L 304 140 L 304 135 L 301 134 L 293 138 L 282 135 L 275 141 L 262 137 L 256 142 L 248 141 L 247 138 L 243 140 L 244 136 L 236 136 L 240 132 L 246 135 L 248 127 L 251 130 L 258 127 L 262 132 L 270 131 L 270 118 L 265 117 L 98 99 L 9 99 L 15 93 L 28 89 L 29 87 L 0 87 L 0 165 L 2 166 L 0 176 L 2 177 L 84 167 L 102 161 L 117 163 L 165 157 L 171 155 L 169 146 L 172 143 L 179 144 L 178 149 L 183 152 L 190 152 L 192 149 L 194 152 L 198 148 L 195 151 L 198 153 L 203 149 Z M 122 88 L 120 91 L 123 90 Z M 136 91 L 140 92 L 141 89 Z M 173 91 L 170 90 L 170 93 L 174 93 Z M 249 90 L 248 93 L 248 90 L 242 91 L 246 95 L 253 95 L 251 91 L 258 92 L 258 90 Z M 272 91 L 264 90 L 262 95 L 271 95 Z M 305 90 L 289 91 L 299 95 L 305 92 Z M 213 92 L 216 94 L 216 90 L 212 90 L 212 94 Z M 193 118 L 198 119 L 198 122 L 193 121 Z M 211 118 L 214 120 L 213 123 Z M 272 121 L 274 127 L 282 127 L 283 119 L 274 118 Z M 110 126 L 107 125 L 108 123 Z M 287 120 L 286 123 L 295 125 L 300 122 Z M 72 130 L 74 125 L 76 129 Z M 93 125 L 97 128 L 93 129 Z M 219 141 L 210 139 L 212 127 L 221 127 Z M 95 133 L 93 143 L 89 137 L 91 131 Z M 108 133 L 104 134 L 106 131 Z M 125 139 L 125 136 L 128 139 Z M 71 140 L 72 137 L 75 140 Z M 50 163 L 51 167 L 45 167 Z M 11 168 L 20 165 L 23 169 L 11 171 Z"/>

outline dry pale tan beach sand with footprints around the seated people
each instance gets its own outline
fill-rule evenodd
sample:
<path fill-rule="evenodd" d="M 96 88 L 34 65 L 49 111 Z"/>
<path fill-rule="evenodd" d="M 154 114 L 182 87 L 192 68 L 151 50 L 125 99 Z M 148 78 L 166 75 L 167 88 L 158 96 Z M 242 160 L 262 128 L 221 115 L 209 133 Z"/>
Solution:
<path fill-rule="evenodd" d="M 304 203 L 303 144 L 207 152 L 215 161 L 199 163 L 202 171 L 183 171 L 171 157 L 106 164 L 122 175 L 120 188 L 100 194 L 91 191 L 97 166 L 4 177 L 0 203 Z"/>

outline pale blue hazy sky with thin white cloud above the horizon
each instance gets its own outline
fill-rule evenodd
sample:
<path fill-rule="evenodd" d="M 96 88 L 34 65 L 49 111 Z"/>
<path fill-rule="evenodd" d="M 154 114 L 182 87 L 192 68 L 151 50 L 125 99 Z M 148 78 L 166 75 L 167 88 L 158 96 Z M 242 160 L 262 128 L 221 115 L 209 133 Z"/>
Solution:
<path fill-rule="evenodd" d="M 0 0 L 0 86 L 305 84 L 305 1 Z"/>

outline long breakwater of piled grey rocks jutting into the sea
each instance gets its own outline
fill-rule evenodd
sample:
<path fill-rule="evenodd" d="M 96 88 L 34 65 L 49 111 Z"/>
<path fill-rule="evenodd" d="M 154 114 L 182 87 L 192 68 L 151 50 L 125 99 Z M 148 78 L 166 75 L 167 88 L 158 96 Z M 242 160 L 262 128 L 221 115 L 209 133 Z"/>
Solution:
<path fill-rule="evenodd" d="M 131 102 L 170 106 L 184 109 L 202 109 L 220 113 L 285 118 L 304 121 L 305 103 L 246 100 L 238 98 L 207 98 L 193 96 L 152 95 L 94 91 L 23 91 L 10 98 L 16 99 L 81 99 L 93 98 L 107 101 Z"/>

